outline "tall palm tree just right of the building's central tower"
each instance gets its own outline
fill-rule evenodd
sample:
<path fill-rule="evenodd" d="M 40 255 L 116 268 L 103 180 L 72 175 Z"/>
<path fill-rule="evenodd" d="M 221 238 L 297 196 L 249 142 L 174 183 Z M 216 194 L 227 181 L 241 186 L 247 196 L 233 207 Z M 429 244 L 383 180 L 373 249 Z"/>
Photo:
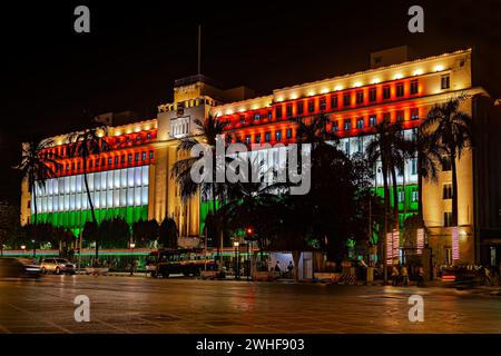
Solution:
<path fill-rule="evenodd" d="M 225 196 L 224 184 L 217 184 L 215 179 L 217 162 L 214 159 L 216 157 L 216 144 L 223 137 L 225 125 L 213 115 L 208 115 L 205 120 L 195 119 L 194 123 L 198 128 L 198 136 L 180 139 L 177 146 L 177 152 L 189 152 L 196 145 L 205 144 L 212 155 L 213 177 L 209 182 L 202 184 L 196 184 L 191 179 L 191 168 L 204 157 L 188 157 L 176 161 L 173 166 L 171 177 L 179 185 L 179 195 L 184 202 L 187 202 L 189 198 L 199 191 L 206 200 L 212 199 L 213 214 L 215 214 L 217 202 L 222 204 Z M 223 248 L 223 229 L 219 227 L 218 255 L 220 248 Z"/>

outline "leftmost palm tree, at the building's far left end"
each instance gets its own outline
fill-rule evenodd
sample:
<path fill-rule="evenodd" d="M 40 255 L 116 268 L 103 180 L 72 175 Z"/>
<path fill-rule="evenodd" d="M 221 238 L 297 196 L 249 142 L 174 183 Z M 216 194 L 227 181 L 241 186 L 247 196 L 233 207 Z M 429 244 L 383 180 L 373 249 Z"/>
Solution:
<path fill-rule="evenodd" d="M 46 149 L 53 145 L 53 140 L 31 139 L 22 145 L 21 162 L 14 167 L 21 171 L 21 176 L 27 180 L 28 189 L 32 195 L 35 221 L 38 222 L 38 205 L 37 205 L 37 187 L 45 189 L 47 179 L 55 178 L 55 169 L 59 169 L 61 165 L 57 161 L 59 158 L 56 154 Z M 31 230 L 32 231 L 32 230 Z M 36 245 L 33 244 L 33 255 Z"/>

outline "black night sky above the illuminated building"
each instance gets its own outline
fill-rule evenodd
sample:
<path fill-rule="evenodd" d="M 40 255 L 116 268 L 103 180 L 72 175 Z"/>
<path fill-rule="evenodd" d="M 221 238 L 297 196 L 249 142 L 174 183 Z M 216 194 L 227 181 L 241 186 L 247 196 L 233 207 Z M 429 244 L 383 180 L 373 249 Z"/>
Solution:
<path fill-rule="evenodd" d="M 421 56 L 473 46 L 501 96 L 501 0 L 456 1 L 18 1 L 1 10 L 0 197 L 17 199 L 22 140 L 81 128 L 88 113 L 154 117 L 177 78 L 203 73 L 258 93 L 366 69 L 369 53 L 409 44 Z M 90 8 L 90 33 L 73 9 Z M 407 9 L 424 8 L 424 33 Z"/>

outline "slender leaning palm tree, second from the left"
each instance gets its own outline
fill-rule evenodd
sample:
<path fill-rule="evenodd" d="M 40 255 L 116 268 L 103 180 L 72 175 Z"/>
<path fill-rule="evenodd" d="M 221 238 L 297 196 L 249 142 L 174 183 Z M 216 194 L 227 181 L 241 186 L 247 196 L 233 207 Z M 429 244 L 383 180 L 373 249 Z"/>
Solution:
<path fill-rule="evenodd" d="M 87 191 L 87 200 L 89 201 L 92 224 L 97 226 L 96 212 L 94 210 L 92 198 L 90 197 L 89 184 L 87 181 L 87 164 L 91 155 L 98 155 L 107 148 L 106 136 L 107 128 L 104 126 L 94 126 L 84 131 L 68 135 L 67 144 L 69 145 L 69 156 L 78 157 L 82 160 L 84 182 Z M 99 257 L 99 243 L 96 240 L 96 260 Z"/>

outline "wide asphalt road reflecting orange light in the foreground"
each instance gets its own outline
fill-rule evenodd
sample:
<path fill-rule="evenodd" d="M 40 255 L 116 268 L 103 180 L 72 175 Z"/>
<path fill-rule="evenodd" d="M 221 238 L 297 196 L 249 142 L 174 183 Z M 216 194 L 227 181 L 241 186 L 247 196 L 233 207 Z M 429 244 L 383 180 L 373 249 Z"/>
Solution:
<path fill-rule="evenodd" d="M 75 320 L 75 297 L 90 322 Z M 424 322 L 410 322 L 411 295 Z M 501 297 L 445 288 L 45 276 L 0 280 L 0 333 L 501 333 Z"/>

